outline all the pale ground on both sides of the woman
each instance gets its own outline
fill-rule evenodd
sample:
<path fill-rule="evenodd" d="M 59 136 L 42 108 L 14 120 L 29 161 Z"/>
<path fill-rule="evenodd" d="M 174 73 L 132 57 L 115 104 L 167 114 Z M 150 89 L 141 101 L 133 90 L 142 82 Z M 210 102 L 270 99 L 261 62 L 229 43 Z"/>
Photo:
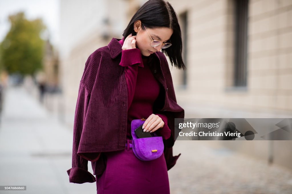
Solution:
<path fill-rule="evenodd" d="M 0 193 L 96 193 L 95 183 L 69 183 L 72 132 L 23 88 L 8 88 L 0 121 L 0 185 L 26 185 L 27 191 Z M 292 194 L 291 170 L 214 141 L 178 140 L 173 155 L 179 153 L 168 171 L 171 194 Z M 90 162 L 88 170 L 93 173 Z"/>

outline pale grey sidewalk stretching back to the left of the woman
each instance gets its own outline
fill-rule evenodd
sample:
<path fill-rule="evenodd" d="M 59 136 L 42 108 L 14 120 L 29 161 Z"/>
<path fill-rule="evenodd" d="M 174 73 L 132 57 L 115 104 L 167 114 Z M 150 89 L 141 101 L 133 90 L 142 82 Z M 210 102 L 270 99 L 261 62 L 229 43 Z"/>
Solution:
<path fill-rule="evenodd" d="M 7 88 L 0 120 L 0 185 L 27 186 L 0 193 L 96 193 L 95 183 L 69 183 L 73 130 L 24 88 Z M 72 118 L 74 119 L 74 118 Z M 91 163 L 88 170 L 92 172 Z"/>

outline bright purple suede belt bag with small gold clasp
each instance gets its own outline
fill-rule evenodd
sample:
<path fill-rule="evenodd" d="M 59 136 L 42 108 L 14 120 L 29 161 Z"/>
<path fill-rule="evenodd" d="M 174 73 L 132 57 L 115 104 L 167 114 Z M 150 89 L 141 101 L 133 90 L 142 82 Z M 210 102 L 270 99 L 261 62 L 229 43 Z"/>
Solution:
<path fill-rule="evenodd" d="M 154 160 L 161 156 L 164 149 L 164 144 L 161 136 L 157 136 L 154 132 L 151 133 L 152 137 L 138 138 L 135 134 L 135 129 L 143 124 L 145 120 L 134 119 L 131 122 L 132 134 L 132 149 L 138 159 L 147 161 Z"/>

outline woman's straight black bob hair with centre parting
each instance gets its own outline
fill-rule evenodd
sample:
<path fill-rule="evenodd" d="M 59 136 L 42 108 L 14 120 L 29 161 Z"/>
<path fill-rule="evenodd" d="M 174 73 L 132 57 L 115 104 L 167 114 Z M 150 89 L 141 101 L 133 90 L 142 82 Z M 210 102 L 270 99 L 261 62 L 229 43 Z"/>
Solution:
<path fill-rule="evenodd" d="M 166 49 L 161 49 L 164 54 L 169 57 L 171 66 L 175 66 L 178 69 L 186 70 L 185 64 L 182 58 L 183 41 L 181 38 L 180 25 L 178 24 L 178 17 L 169 2 L 164 0 L 149 0 L 134 14 L 127 28 L 124 30 L 124 39 L 132 33 L 136 35 L 134 31 L 134 23 L 137 20 L 145 25 L 145 27 L 154 29 L 159 27 L 167 27 L 173 29 L 173 34 L 170 37 L 172 46 Z M 145 30 L 142 27 L 142 30 Z"/>

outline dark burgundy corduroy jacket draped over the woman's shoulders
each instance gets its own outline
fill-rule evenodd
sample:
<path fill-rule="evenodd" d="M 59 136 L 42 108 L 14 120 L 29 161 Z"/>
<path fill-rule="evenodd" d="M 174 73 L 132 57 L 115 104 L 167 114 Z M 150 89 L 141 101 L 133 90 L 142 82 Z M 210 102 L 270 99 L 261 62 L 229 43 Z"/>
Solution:
<path fill-rule="evenodd" d="M 128 91 L 125 67 L 142 63 L 138 48 L 122 50 L 119 40 L 112 38 L 109 44 L 95 50 L 86 60 L 79 83 L 74 116 L 72 168 L 67 170 L 69 182 L 95 182 L 93 175 L 105 170 L 103 152 L 125 149 L 127 132 Z M 154 103 L 154 113 L 164 115 L 171 129 L 171 136 L 163 139 L 167 170 L 178 157 L 173 156 L 175 142 L 174 118 L 184 118 L 184 109 L 175 98 L 168 62 L 160 51 L 151 54 L 159 67 L 152 72 L 164 90 Z M 93 175 L 88 172 L 91 161 Z"/>

